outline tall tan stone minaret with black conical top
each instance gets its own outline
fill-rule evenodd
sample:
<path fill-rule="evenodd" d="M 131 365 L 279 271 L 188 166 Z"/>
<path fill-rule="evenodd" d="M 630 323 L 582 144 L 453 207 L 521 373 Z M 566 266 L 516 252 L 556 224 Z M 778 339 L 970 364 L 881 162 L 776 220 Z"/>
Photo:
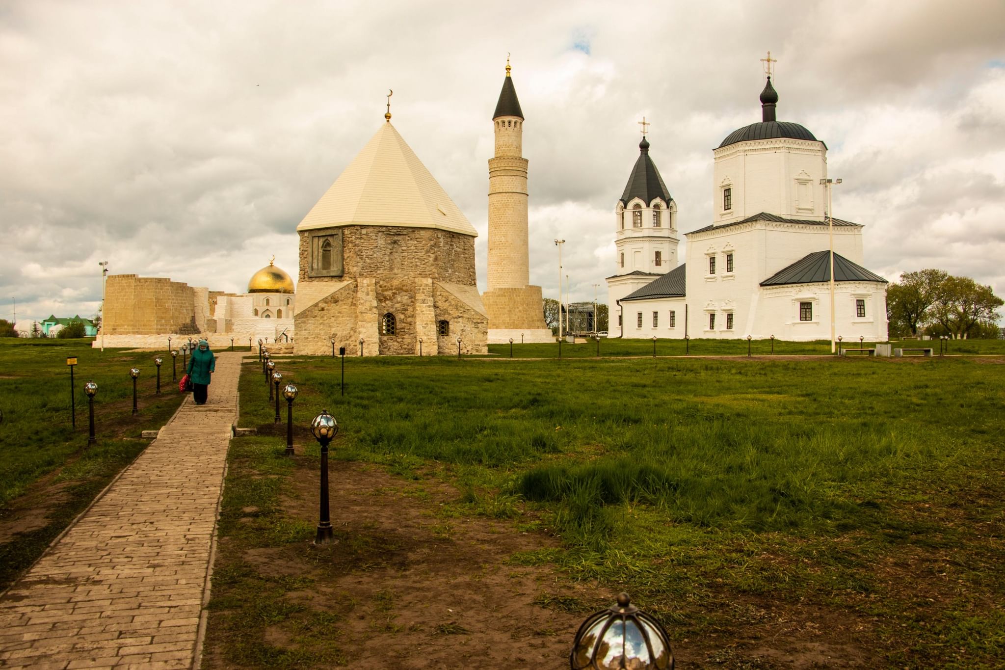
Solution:
<path fill-rule="evenodd" d="M 550 339 L 541 287 L 532 286 L 528 249 L 524 111 L 513 85 L 510 59 L 495 114 L 495 156 L 488 160 L 488 342 Z"/>

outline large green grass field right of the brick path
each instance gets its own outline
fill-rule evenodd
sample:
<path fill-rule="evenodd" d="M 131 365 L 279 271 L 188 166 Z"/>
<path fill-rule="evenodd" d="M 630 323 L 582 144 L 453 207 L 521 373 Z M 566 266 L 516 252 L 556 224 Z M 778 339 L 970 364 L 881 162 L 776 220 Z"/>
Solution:
<path fill-rule="evenodd" d="M 703 648 L 710 663 L 775 667 L 764 648 L 798 638 L 853 640 L 868 667 L 990 668 L 1005 657 L 1002 363 L 352 359 L 345 398 L 337 361 L 280 359 L 278 370 L 300 389 L 298 424 L 323 408 L 339 420 L 336 459 L 453 484 L 445 518 L 557 534 L 561 547 L 510 561 L 630 591 L 678 649 Z M 254 370 L 241 422 L 269 431 Z M 280 490 L 288 468 L 263 458 Z M 261 484 L 228 479 L 225 510 Z M 273 513 L 274 527 L 300 524 L 281 543 L 308 542 L 314 519 Z M 240 599 L 228 607 L 251 614 Z"/>

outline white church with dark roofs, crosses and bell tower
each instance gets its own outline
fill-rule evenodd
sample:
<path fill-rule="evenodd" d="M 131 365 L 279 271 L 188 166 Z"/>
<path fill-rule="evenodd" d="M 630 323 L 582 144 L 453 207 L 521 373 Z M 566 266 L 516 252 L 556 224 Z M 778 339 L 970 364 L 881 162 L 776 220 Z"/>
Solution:
<path fill-rule="evenodd" d="M 827 146 L 775 120 L 771 75 L 762 121 L 715 150 L 713 221 L 684 233 L 645 137 L 615 213 L 607 277 L 612 338 L 830 339 Z M 644 127 L 643 127 L 644 128 Z M 835 333 L 886 340 L 886 280 L 862 267 L 862 226 L 833 220 Z"/>

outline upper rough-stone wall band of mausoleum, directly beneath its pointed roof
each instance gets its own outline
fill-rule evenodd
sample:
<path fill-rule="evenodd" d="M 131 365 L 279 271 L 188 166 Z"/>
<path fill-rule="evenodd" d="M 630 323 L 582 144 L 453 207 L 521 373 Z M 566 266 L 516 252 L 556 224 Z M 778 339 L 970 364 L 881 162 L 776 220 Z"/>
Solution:
<path fill-rule="evenodd" d="M 451 283 L 475 283 L 474 238 L 434 228 L 401 226 L 342 226 L 345 273 L 333 281 L 357 277 L 430 277 Z M 299 280 L 318 281 L 309 275 L 311 233 L 299 232 Z M 324 232 L 324 231 L 322 231 Z"/>

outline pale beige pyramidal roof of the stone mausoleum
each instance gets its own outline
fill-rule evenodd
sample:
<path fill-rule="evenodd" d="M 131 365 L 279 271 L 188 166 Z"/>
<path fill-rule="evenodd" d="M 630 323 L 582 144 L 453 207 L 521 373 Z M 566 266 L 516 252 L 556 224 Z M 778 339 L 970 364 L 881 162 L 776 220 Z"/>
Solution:
<path fill-rule="evenodd" d="M 478 234 L 390 122 L 381 126 L 296 230 L 351 224 Z"/>

